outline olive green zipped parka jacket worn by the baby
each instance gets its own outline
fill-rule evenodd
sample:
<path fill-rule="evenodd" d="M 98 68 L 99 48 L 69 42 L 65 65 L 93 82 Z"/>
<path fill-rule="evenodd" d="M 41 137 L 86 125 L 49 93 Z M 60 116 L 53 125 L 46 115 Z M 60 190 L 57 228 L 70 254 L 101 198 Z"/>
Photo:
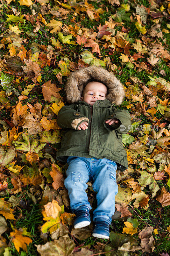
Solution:
<path fill-rule="evenodd" d="M 83 71 L 88 68 L 83 68 Z M 95 71 L 96 69 L 97 71 L 98 69 L 103 71 L 103 68 L 96 66 L 94 68 Z M 107 70 L 104 71 L 108 72 Z M 80 70 L 76 72 L 80 72 Z M 96 80 L 96 77 L 92 76 L 91 80 Z M 104 83 L 101 79 L 98 81 Z M 70 84 L 70 81 L 68 82 Z M 104 84 L 107 86 L 106 81 Z M 71 90 L 70 85 L 68 87 Z M 124 93 L 122 95 L 124 96 Z M 107 158 L 117 162 L 118 169 L 122 171 L 127 169 L 127 154 L 122 144 L 121 134 L 127 133 L 131 126 L 131 117 L 128 110 L 116 109 L 113 107 L 113 102 L 108 99 L 97 100 L 93 106 L 85 101 L 77 100 L 77 98 L 74 101 L 76 101 L 76 104 L 62 107 L 57 116 L 57 124 L 60 128 L 65 129 L 61 140 L 61 148 L 57 151 L 57 160 L 66 162 L 68 156 Z M 120 94 L 117 101 L 121 101 Z M 110 118 L 117 118 L 119 120 L 118 124 L 106 124 L 105 121 Z M 78 126 L 84 121 L 89 123 L 88 129 L 78 130 Z"/>

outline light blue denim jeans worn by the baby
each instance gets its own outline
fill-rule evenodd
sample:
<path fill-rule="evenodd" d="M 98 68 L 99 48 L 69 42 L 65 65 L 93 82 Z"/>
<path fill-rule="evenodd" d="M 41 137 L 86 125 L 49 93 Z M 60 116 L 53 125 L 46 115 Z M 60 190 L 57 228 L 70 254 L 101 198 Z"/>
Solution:
<path fill-rule="evenodd" d="M 81 205 L 92 209 L 85 191 L 88 188 L 86 183 L 92 180 L 92 187 L 97 193 L 97 208 L 93 211 L 93 220 L 102 217 L 111 222 L 111 216 L 115 212 L 115 196 L 118 192 L 117 164 L 106 158 L 75 156 L 68 156 L 67 163 L 67 178 L 64 185 L 68 190 L 72 212 Z"/>

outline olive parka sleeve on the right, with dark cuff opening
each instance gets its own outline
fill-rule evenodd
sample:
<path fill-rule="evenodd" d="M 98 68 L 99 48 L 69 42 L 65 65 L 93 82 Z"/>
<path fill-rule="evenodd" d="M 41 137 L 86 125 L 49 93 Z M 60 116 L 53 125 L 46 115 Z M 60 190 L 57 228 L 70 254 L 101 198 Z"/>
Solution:
<path fill-rule="evenodd" d="M 111 125 L 106 124 L 105 121 L 110 118 L 118 119 L 119 122 L 117 124 L 114 123 Z M 113 113 L 104 119 L 103 124 L 108 131 L 117 130 L 117 132 L 125 134 L 131 130 L 131 116 L 128 110 L 121 110 L 115 108 L 113 109 Z"/>

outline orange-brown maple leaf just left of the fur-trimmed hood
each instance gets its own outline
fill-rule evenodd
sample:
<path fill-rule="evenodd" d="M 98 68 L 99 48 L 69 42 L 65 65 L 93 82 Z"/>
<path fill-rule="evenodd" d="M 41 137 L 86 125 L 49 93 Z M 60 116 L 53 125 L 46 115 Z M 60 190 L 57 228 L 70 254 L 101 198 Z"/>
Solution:
<path fill-rule="evenodd" d="M 42 94 L 44 96 L 44 100 L 51 100 L 51 96 L 53 95 L 56 98 L 61 98 L 60 91 L 61 88 L 58 88 L 55 84 L 51 83 L 50 81 L 47 81 L 45 84 L 42 85 Z"/>

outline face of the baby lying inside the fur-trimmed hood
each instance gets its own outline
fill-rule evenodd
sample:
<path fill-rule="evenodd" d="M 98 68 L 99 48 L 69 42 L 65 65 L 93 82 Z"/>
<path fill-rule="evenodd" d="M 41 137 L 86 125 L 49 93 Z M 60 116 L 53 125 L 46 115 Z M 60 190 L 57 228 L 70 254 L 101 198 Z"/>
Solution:
<path fill-rule="evenodd" d="M 90 82 L 84 88 L 83 97 L 81 100 L 89 103 L 91 106 L 96 100 L 105 100 L 107 94 L 107 87 L 99 82 Z"/>

